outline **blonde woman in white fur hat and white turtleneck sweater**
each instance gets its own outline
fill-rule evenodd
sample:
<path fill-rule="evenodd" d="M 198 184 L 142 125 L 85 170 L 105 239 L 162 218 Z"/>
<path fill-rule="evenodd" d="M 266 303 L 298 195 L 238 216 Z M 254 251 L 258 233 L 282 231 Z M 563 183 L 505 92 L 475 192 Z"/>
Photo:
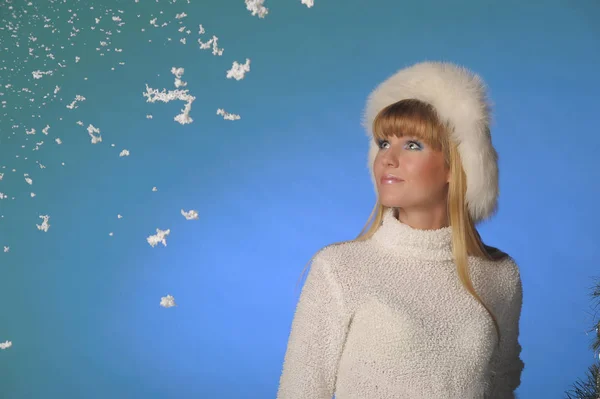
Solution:
<path fill-rule="evenodd" d="M 372 223 L 313 256 L 279 399 L 515 398 L 519 268 L 475 227 L 497 209 L 489 124 L 483 81 L 451 63 L 371 93 Z"/>

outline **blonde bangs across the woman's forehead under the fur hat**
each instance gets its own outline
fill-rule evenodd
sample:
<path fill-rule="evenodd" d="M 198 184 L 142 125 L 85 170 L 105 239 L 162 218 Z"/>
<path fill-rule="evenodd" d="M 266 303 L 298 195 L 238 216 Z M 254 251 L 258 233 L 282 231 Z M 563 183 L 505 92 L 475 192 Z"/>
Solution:
<path fill-rule="evenodd" d="M 382 109 L 373 121 L 373 138 L 415 137 L 448 159 L 448 127 L 442 124 L 434 108 L 425 102 L 401 100 Z"/>

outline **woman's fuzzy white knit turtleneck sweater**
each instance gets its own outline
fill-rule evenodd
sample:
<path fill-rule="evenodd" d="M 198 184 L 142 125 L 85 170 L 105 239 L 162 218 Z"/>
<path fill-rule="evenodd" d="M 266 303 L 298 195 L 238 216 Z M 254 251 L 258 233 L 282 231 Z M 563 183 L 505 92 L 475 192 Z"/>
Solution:
<path fill-rule="evenodd" d="M 522 285 L 507 257 L 469 257 L 460 283 L 451 227 L 418 230 L 387 210 L 375 235 L 315 256 L 291 326 L 278 399 L 515 398 Z"/>

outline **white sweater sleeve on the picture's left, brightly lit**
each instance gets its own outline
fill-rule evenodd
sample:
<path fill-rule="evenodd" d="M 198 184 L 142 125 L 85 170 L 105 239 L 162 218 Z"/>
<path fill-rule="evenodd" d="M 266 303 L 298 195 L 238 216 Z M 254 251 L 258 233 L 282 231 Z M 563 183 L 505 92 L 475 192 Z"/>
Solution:
<path fill-rule="evenodd" d="M 296 306 L 277 399 L 331 399 L 349 326 L 342 291 L 316 255 Z"/>

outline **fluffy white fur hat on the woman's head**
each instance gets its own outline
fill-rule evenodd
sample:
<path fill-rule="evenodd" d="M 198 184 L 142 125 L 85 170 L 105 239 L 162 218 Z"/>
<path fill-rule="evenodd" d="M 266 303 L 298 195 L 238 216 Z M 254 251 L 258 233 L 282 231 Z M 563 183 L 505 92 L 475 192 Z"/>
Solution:
<path fill-rule="evenodd" d="M 498 154 L 490 134 L 490 103 L 485 83 L 464 67 L 448 62 L 421 62 L 404 68 L 381 83 L 367 99 L 363 125 L 371 139 L 369 170 L 377 193 L 373 163 L 379 151 L 373 140 L 373 121 L 385 107 L 400 100 L 431 104 L 438 117 L 454 129 L 467 176 L 466 201 L 475 223 L 491 217 L 498 202 Z"/>

